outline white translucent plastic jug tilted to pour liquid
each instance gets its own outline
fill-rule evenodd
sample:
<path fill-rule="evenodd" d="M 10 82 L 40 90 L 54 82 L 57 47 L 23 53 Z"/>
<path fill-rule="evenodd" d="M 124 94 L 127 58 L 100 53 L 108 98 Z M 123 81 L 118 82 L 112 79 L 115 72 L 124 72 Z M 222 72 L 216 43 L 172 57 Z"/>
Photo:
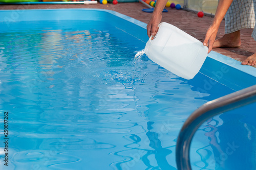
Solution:
<path fill-rule="evenodd" d="M 202 42 L 169 23 L 161 22 L 151 38 L 145 46 L 147 57 L 184 79 L 193 79 L 207 57 Z"/>

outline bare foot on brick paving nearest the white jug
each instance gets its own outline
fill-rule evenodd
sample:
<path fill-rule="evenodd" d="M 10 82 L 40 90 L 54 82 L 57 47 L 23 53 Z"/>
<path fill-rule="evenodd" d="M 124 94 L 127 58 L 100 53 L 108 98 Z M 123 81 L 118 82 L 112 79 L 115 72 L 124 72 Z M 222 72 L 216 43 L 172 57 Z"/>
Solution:
<path fill-rule="evenodd" d="M 240 31 L 224 34 L 223 37 L 215 40 L 212 48 L 232 47 L 237 48 L 241 45 Z"/>

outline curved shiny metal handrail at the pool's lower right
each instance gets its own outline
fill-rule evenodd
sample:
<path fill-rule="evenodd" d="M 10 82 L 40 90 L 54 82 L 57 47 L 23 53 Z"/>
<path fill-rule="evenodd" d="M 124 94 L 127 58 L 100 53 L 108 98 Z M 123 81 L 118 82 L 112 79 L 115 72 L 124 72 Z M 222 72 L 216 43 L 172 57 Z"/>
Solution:
<path fill-rule="evenodd" d="M 256 85 L 225 95 L 202 105 L 186 120 L 178 136 L 176 163 L 178 169 L 190 170 L 189 148 L 197 129 L 210 117 L 256 102 Z"/>

